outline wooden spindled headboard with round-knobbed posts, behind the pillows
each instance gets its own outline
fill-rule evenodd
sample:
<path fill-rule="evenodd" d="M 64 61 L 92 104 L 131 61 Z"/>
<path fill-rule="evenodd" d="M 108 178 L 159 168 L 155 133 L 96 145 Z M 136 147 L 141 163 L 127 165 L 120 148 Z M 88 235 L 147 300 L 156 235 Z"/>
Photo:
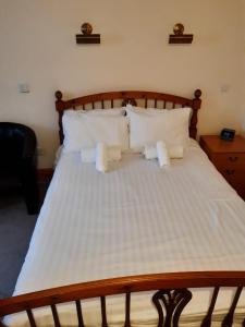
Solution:
<path fill-rule="evenodd" d="M 56 109 L 59 112 L 59 134 L 60 143 L 63 143 L 63 129 L 62 129 L 62 116 L 64 110 L 68 109 L 82 109 L 91 110 L 96 108 L 114 108 L 126 106 L 132 104 L 133 106 L 139 106 L 145 108 L 157 108 L 157 109 L 175 109 L 183 107 L 191 107 L 193 109 L 192 119 L 189 122 L 189 136 L 196 138 L 197 135 L 197 111 L 200 108 L 200 96 L 201 90 L 196 89 L 194 92 L 194 98 L 183 98 L 175 95 L 157 93 L 157 92 L 145 92 L 145 90 L 121 90 L 121 92 L 107 92 L 82 96 L 74 99 L 63 100 L 62 93 L 56 92 Z M 120 101 L 120 102 L 119 102 Z"/>

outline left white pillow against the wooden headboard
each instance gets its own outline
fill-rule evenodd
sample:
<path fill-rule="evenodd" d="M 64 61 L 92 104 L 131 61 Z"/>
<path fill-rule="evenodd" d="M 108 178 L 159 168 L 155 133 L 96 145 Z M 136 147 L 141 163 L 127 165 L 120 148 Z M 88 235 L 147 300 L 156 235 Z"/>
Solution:
<path fill-rule="evenodd" d="M 95 147 L 98 142 L 107 146 L 128 148 L 127 119 L 123 116 L 81 114 L 66 110 L 62 117 L 64 153 Z"/>

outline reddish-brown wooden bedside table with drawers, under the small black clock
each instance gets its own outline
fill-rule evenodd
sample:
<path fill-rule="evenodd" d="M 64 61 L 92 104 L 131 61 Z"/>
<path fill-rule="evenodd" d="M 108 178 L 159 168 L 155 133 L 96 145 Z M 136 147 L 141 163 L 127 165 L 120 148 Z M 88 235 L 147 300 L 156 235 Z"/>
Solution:
<path fill-rule="evenodd" d="M 199 143 L 219 172 L 245 199 L 245 138 L 237 135 L 230 142 L 205 135 Z"/>

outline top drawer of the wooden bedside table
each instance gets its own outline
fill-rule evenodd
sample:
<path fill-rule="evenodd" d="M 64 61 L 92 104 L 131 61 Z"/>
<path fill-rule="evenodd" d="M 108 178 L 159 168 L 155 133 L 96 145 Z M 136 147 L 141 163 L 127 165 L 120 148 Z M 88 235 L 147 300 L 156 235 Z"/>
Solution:
<path fill-rule="evenodd" d="M 211 161 L 220 169 L 235 169 L 245 173 L 245 154 L 213 154 Z"/>

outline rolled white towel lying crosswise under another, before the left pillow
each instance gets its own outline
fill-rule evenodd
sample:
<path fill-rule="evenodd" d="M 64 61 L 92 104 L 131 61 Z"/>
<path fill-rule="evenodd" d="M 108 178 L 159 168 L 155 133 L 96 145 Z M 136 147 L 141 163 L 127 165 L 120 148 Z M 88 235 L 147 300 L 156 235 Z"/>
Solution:
<path fill-rule="evenodd" d="M 109 161 L 119 161 L 122 159 L 121 148 L 118 146 L 107 147 L 107 155 Z M 95 162 L 96 161 L 96 148 L 95 147 L 83 147 L 81 149 L 82 162 Z"/>

